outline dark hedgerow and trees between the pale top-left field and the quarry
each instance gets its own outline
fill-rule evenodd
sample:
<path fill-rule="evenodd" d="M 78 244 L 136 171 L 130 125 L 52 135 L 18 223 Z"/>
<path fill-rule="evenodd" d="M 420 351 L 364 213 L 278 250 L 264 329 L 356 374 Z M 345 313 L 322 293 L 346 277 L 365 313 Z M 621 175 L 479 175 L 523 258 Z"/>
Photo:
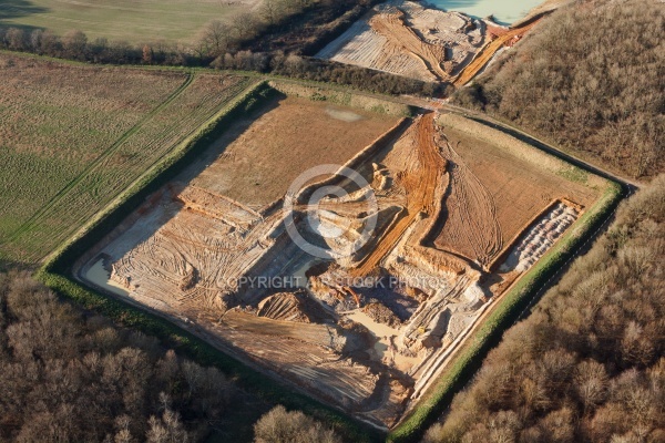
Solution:
<path fill-rule="evenodd" d="M 90 63 L 212 66 L 350 85 L 390 94 L 438 95 L 443 85 L 313 58 L 379 0 L 266 0 L 257 11 L 207 23 L 191 44 L 89 39 L 79 30 L 0 27 L 0 49 Z"/>

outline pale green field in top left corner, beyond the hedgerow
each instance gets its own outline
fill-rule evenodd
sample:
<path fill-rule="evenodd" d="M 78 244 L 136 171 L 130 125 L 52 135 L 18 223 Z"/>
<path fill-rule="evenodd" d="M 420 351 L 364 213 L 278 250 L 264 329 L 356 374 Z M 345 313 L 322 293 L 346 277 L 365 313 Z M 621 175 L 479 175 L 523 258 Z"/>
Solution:
<path fill-rule="evenodd" d="M 191 42 L 211 20 L 254 8 L 258 0 L 0 0 L 0 25 L 81 30 L 130 43 Z"/>

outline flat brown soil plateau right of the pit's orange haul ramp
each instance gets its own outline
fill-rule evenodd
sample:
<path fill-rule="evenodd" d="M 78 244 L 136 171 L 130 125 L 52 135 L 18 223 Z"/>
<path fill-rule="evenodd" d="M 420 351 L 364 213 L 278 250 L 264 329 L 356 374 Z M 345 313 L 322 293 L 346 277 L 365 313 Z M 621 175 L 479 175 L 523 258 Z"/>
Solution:
<path fill-rule="evenodd" d="M 589 186 L 544 171 L 498 146 L 443 128 L 442 150 L 451 186 L 444 198 L 437 248 L 488 266 L 555 198 L 587 206 L 598 197 Z"/>

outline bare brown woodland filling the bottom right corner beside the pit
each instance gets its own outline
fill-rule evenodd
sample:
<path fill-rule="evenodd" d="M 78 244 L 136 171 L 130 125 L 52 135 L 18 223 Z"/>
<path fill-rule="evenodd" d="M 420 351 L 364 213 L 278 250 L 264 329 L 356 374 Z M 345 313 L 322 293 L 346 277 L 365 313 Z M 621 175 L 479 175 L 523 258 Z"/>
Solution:
<path fill-rule="evenodd" d="M 490 352 L 426 442 L 665 441 L 665 175 Z"/>

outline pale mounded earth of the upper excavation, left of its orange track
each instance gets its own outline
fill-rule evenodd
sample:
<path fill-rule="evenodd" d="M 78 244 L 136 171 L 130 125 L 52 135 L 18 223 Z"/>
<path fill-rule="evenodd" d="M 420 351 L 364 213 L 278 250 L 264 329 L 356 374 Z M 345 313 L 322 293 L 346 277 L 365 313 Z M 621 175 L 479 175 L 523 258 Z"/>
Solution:
<path fill-rule="evenodd" d="M 446 81 L 482 47 L 483 27 L 458 12 L 393 0 L 375 7 L 317 56 L 424 81 Z"/>

